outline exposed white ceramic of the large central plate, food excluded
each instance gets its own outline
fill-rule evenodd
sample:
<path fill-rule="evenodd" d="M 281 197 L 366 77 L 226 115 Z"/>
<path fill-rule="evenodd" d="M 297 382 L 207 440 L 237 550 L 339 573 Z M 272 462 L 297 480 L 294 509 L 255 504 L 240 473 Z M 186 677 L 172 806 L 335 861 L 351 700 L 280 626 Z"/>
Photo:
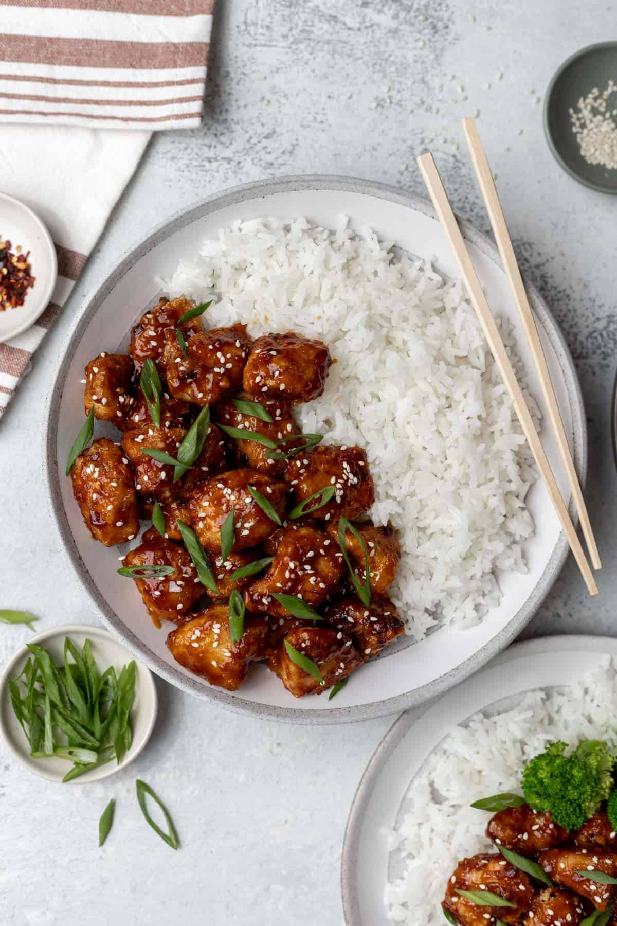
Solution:
<path fill-rule="evenodd" d="M 420 704 L 479 669 L 495 656 L 532 617 L 557 577 L 567 553 L 559 521 L 543 486 L 529 494 L 536 536 L 525 546 L 526 575 L 498 577 L 499 607 L 471 630 L 441 628 L 422 643 L 393 647 L 359 669 L 353 683 L 328 704 L 325 697 L 294 699 L 263 666 L 255 667 L 238 692 L 228 693 L 179 667 L 167 651 L 166 632 L 157 631 L 132 583 L 117 576 L 117 549 L 93 542 L 73 499 L 64 469 L 68 450 L 83 422 L 83 368 L 101 350 L 115 350 L 158 291 L 156 277 L 170 274 L 180 257 L 194 253 L 207 236 L 237 219 L 265 215 L 290 219 L 306 216 L 333 227 L 341 213 L 356 230 L 370 225 L 386 239 L 422 257 L 437 257 L 438 269 L 456 275 L 450 249 L 423 199 L 378 183 L 341 178 L 290 178 L 248 184 L 217 194 L 171 219 L 125 257 L 87 301 L 68 343 L 50 398 L 44 455 L 50 496 L 62 542 L 81 582 L 92 594 L 103 619 L 154 671 L 179 687 L 209 697 L 231 709 L 278 720 L 336 723 L 364 720 Z M 524 341 L 497 252 L 487 238 L 463 223 L 476 269 L 493 310 L 509 316 L 538 403 L 542 395 Z M 532 307 L 550 373 L 570 435 L 581 477 L 586 473 L 586 424 L 572 359 L 549 310 L 533 287 Z M 103 429 L 97 424 L 97 433 Z M 542 439 L 564 497 L 567 482 L 555 442 L 545 426 Z"/>

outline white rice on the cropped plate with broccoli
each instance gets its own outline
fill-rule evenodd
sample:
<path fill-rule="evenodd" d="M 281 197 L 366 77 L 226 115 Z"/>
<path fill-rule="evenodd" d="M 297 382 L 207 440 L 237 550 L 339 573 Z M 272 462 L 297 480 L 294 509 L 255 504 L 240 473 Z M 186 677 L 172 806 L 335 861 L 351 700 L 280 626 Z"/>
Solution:
<path fill-rule="evenodd" d="M 386 832 L 389 849 L 397 849 L 404 864 L 402 877 L 386 887 L 389 918 L 441 926 L 440 904 L 458 862 L 495 851 L 485 836 L 490 815 L 469 805 L 488 795 L 520 794 L 524 765 L 551 741 L 600 739 L 614 748 L 616 697 L 611 657 L 598 657 L 585 682 L 550 694 L 529 692 L 514 710 L 476 714 L 455 727 L 413 781 L 399 829 Z"/>

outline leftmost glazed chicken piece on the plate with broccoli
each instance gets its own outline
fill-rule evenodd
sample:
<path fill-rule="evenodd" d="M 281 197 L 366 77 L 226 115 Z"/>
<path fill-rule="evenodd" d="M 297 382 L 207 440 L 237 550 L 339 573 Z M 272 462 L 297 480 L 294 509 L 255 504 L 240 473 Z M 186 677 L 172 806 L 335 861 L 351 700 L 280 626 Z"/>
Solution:
<path fill-rule="evenodd" d="M 474 904 L 459 891 L 490 891 L 516 907 L 485 907 Z M 534 889 L 523 871 L 514 868 L 503 856 L 489 853 L 459 862 L 448 882 L 441 905 L 460 926 L 487 926 L 499 918 L 514 926 L 523 923 L 534 897 Z"/>

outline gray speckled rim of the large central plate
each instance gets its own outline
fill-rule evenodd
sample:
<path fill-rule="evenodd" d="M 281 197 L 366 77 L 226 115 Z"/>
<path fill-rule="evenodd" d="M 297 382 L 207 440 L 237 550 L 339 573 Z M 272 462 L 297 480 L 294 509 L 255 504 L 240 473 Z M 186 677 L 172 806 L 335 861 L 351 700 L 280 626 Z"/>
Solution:
<path fill-rule="evenodd" d="M 553 582 L 555 582 L 561 571 L 569 549 L 563 535 L 560 536 L 549 558 L 546 569 L 537 582 L 536 588 L 524 602 L 523 607 L 517 611 L 503 630 L 497 633 L 486 645 L 481 647 L 473 657 L 469 657 L 461 663 L 461 665 L 457 666 L 456 669 L 450 670 L 450 672 L 445 673 L 433 682 L 422 685 L 412 692 L 406 692 L 396 695 L 395 697 L 365 705 L 329 707 L 323 710 L 318 709 L 311 711 L 305 711 L 298 707 L 276 707 L 240 699 L 234 697 L 232 694 L 228 694 L 228 692 L 222 689 L 206 686 L 203 682 L 191 679 L 179 672 L 178 669 L 168 665 L 160 657 L 157 657 L 134 633 L 130 632 L 126 625 L 117 617 L 115 611 L 109 607 L 105 601 L 105 597 L 99 592 L 85 563 L 80 557 L 80 551 L 70 530 L 62 503 L 56 459 L 58 410 L 68 375 L 68 367 L 77 349 L 77 345 L 80 343 L 80 339 L 93 319 L 94 314 L 124 274 L 157 244 L 166 240 L 167 237 L 177 232 L 179 229 L 191 224 L 191 222 L 201 219 L 204 215 L 215 212 L 221 207 L 237 205 L 248 199 L 256 199 L 271 194 L 288 193 L 298 190 L 331 190 L 333 192 L 343 191 L 374 196 L 377 199 L 386 199 L 401 206 L 407 206 L 433 219 L 436 218 L 433 207 L 426 199 L 414 194 L 405 193 L 385 183 L 354 179 L 351 177 L 308 175 L 244 183 L 241 186 L 232 187 L 223 193 L 206 196 L 205 199 L 196 206 L 190 206 L 180 211 L 175 216 L 172 216 L 171 219 L 167 219 L 159 225 L 154 232 L 147 235 L 141 244 L 138 244 L 127 252 L 118 262 L 116 268 L 105 277 L 103 282 L 93 289 L 93 292 L 84 301 L 83 310 L 68 332 L 66 342 L 60 352 L 61 360 L 56 374 L 56 382 L 49 395 L 47 404 L 47 424 L 43 433 L 43 472 L 49 485 L 50 506 L 54 519 L 56 520 L 57 529 L 60 533 L 62 541 L 61 547 L 65 556 L 68 557 L 73 569 L 75 569 L 82 588 L 90 595 L 93 604 L 98 610 L 99 617 L 103 620 L 105 626 L 108 627 L 111 632 L 115 633 L 117 637 L 129 647 L 131 652 L 141 659 L 145 665 L 149 666 L 150 669 L 153 669 L 157 675 L 160 675 L 167 682 L 176 685 L 182 691 L 208 698 L 219 707 L 225 707 L 229 710 L 258 717 L 263 720 L 278 720 L 288 723 L 309 725 L 349 723 L 358 720 L 372 720 L 376 717 L 395 714 L 406 708 L 423 704 L 429 698 L 433 698 L 441 692 L 447 691 L 453 685 L 463 682 L 463 679 L 472 675 L 484 666 L 489 659 L 495 657 L 508 644 L 511 644 L 514 637 L 521 632 L 524 625 L 536 613 L 537 608 L 549 593 Z M 475 244 L 483 254 L 490 257 L 500 266 L 498 250 L 490 239 L 481 232 L 477 232 L 467 222 L 460 220 L 460 224 L 466 240 Z M 533 285 L 525 281 L 525 286 L 537 322 L 549 338 L 549 342 L 555 351 L 563 372 L 572 412 L 574 464 L 581 477 L 582 483 L 585 484 L 587 469 L 586 418 L 583 396 L 576 377 L 574 362 L 570 356 L 563 335 L 550 314 L 549 307 Z M 574 518 L 575 512 L 572 504 L 570 506 L 570 512 L 571 516 Z"/>

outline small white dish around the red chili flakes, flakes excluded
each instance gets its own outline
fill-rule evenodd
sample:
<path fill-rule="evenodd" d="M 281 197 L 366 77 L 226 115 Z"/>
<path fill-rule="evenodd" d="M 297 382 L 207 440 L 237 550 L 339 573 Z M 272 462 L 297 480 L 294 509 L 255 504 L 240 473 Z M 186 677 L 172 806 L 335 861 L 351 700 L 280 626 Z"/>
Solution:
<path fill-rule="evenodd" d="M 0 193 L 0 241 L 6 239 L 13 248 L 20 244 L 23 254 L 30 251 L 35 280 L 23 306 L 0 312 L 0 341 L 25 332 L 43 315 L 54 293 L 58 272 L 56 247 L 41 219 L 19 199 Z"/>

